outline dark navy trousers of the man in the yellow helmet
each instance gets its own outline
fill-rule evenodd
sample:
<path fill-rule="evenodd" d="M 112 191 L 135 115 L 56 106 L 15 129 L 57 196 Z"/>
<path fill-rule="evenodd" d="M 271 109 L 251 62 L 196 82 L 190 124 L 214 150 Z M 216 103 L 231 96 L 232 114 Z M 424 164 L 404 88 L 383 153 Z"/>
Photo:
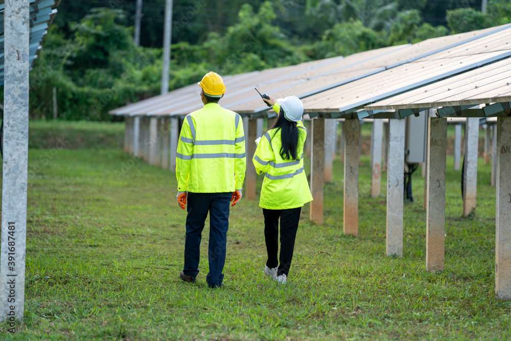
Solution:
<path fill-rule="evenodd" d="M 207 285 L 219 287 L 224 275 L 227 230 L 229 229 L 229 204 L 233 197 L 228 193 L 188 193 L 187 232 L 184 239 L 184 274 L 196 277 L 199 274 L 200 241 L 207 213 L 210 213 L 210 241 L 208 260 L 210 272 Z"/>

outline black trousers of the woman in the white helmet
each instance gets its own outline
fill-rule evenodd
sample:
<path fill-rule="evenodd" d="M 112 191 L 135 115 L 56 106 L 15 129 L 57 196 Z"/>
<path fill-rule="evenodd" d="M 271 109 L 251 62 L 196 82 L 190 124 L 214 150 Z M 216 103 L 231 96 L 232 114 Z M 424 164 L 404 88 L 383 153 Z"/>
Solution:
<path fill-rule="evenodd" d="M 268 252 L 266 266 L 278 266 L 277 276 L 287 276 L 289 274 L 300 213 L 301 207 L 287 210 L 263 209 L 264 238 L 266 241 L 266 251 Z M 281 253 L 277 260 L 279 218 L 281 219 Z"/>

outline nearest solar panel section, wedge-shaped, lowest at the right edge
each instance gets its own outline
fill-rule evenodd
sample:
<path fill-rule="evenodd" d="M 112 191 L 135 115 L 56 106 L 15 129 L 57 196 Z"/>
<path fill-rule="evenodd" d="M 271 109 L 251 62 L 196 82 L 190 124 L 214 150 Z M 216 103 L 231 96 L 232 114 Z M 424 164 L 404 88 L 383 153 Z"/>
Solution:
<path fill-rule="evenodd" d="M 509 101 L 511 58 L 367 105 L 366 109 L 425 108 Z"/>

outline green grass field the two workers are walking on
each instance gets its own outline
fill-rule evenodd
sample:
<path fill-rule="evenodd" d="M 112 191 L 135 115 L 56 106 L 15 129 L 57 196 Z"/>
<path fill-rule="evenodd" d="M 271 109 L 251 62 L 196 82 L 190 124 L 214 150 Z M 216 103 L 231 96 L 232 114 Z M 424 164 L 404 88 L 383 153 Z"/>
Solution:
<path fill-rule="evenodd" d="M 31 149 L 25 320 L 0 339 L 508 339 L 511 302 L 495 299 L 495 188 L 479 163 L 475 215 L 461 216 L 448 158 L 445 271 L 425 271 L 424 179 L 405 204 L 403 258 L 385 257 L 385 181 L 371 199 L 360 168 L 359 237 L 342 233 L 342 164 L 325 185 L 325 223 L 304 207 L 286 285 L 266 261 L 257 201 L 231 209 L 224 286 L 179 280 L 185 212 L 173 173 L 120 148 Z M 385 177 L 385 174 L 384 176 Z M 261 181 L 261 178 L 260 178 Z"/>

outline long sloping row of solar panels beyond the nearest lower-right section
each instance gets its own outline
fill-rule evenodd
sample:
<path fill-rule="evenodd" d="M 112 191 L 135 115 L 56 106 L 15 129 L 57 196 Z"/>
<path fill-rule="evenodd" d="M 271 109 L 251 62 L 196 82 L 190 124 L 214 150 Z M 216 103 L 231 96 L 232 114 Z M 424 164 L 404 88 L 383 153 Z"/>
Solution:
<path fill-rule="evenodd" d="M 510 56 L 511 25 L 503 25 L 347 57 L 227 76 L 227 92 L 221 105 L 242 116 L 272 115 L 253 89 L 257 87 L 275 98 L 300 97 L 310 117 L 390 117 L 380 111 L 383 109 L 368 111 L 364 106 Z M 194 83 L 110 113 L 184 116 L 202 107 L 198 94 Z"/>

